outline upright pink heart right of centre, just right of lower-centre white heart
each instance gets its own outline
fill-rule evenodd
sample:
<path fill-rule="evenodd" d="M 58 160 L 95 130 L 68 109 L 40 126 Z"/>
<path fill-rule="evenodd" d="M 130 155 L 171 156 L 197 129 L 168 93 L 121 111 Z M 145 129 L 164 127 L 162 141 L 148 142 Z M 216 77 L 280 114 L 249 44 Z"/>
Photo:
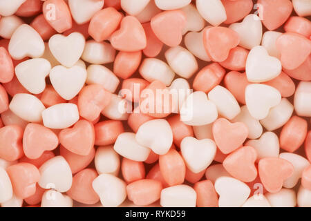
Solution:
<path fill-rule="evenodd" d="M 212 130 L 218 148 L 225 154 L 239 148 L 248 135 L 248 129 L 245 124 L 241 122 L 232 124 L 225 118 L 216 119 Z"/>

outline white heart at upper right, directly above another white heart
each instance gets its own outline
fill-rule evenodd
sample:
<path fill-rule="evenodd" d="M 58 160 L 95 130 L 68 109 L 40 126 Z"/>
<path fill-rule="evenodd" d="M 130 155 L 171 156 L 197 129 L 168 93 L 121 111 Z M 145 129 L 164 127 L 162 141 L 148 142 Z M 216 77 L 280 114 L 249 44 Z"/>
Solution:
<path fill-rule="evenodd" d="M 246 59 L 247 80 L 254 83 L 269 81 L 281 74 L 281 61 L 268 55 L 263 46 L 256 46 L 249 51 Z"/>

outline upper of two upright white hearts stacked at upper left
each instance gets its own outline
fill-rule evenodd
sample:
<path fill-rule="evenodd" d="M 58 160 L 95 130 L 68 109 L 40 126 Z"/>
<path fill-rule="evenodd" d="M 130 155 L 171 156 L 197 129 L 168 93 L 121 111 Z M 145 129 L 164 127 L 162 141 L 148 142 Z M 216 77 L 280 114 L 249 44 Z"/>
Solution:
<path fill-rule="evenodd" d="M 53 35 L 48 41 L 48 47 L 52 55 L 60 64 L 70 68 L 79 61 L 85 46 L 84 36 L 79 32 L 73 32 L 67 37 Z"/>

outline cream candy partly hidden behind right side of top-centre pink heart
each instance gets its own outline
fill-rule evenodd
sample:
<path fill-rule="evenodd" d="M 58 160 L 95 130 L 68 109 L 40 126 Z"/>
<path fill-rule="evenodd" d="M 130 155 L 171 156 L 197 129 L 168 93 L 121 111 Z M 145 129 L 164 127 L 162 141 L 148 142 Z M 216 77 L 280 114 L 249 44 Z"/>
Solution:
<path fill-rule="evenodd" d="M 166 2 L 170 2 L 170 1 L 166 1 Z M 200 16 L 198 10 L 196 10 L 196 6 L 189 4 L 181 8 L 180 10 L 182 10 L 182 12 L 185 13 L 186 18 L 187 18 L 186 26 L 182 30 L 182 35 L 185 35 L 188 31 L 199 32 L 200 30 L 204 28 L 205 20 Z"/>

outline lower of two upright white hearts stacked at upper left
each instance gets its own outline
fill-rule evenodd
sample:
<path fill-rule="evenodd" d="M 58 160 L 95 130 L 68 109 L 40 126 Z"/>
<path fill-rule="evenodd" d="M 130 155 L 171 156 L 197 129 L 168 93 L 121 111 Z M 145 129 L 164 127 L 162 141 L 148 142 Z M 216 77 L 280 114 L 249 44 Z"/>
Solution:
<path fill-rule="evenodd" d="M 50 70 L 50 82 L 53 88 L 67 100 L 73 99 L 83 88 L 86 76 L 85 68 L 80 66 L 66 68 L 59 65 Z"/>

